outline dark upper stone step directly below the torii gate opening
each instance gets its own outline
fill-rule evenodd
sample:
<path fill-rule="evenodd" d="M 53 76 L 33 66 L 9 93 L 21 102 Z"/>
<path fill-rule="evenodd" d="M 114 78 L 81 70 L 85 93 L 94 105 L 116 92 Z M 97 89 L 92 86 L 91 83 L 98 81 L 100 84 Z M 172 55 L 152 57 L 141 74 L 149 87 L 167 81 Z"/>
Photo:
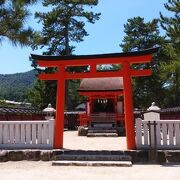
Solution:
<path fill-rule="evenodd" d="M 129 155 L 108 155 L 108 154 L 61 154 L 56 155 L 55 160 L 67 161 L 131 161 Z"/>

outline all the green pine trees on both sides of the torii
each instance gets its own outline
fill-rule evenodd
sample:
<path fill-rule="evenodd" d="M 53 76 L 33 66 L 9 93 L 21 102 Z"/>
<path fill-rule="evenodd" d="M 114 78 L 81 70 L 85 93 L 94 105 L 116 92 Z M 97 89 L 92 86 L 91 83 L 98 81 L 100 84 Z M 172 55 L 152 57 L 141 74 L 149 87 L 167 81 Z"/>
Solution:
<path fill-rule="evenodd" d="M 28 7 L 36 1 L 0 0 L 0 42 L 8 39 L 15 46 L 31 45 L 33 49 L 43 48 L 43 54 L 46 55 L 71 55 L 76 48 L 75 44 L 88 36 L 85 24 L 93 24 L 100 18 L 100 13 L 92 10 L 98 0 L 43 0 L 42 4 L 48 10 L 36 12 L 35 18 L 42 23 L 42 30 L 35 32 L 26 22 L 30 16 Z M 153 70 L 150 77 L 133 79 L 135 107 L 146 108 L 152 101 L 161 107 L 179 106 L 180 2 L 167 0 L 164 7 L 170 13 L 169 16 L 160 13 L 159 19 L 148 22 L 142 17 L 133 17 L 124 25 L 125 36 L 120 44 L 124 52 L 161 47 L 151 63 L 132 67 Z M 164 30 L 164 36 L 160 29 Z M 55 68 L 39 69 L 35 61 L 32 61 L 32 64 L 38 72 L 56 71 Z M 102 68 L 119 67 L 99 66 L 99 69 Z M 86 67 L 66 69 L 71 72 L 84 70 Z M 67 81 L 66 97 L 72 97 L 71 102 L 67 102 L 68 109 L 79 103 L 80 97 L 76 92 L 78 84 L 78 80 Z M 29 92 L 29 100 L 38 107 L 46 107 L 49 102 L 55 106 L 56 83 L 37 81 Z"/>

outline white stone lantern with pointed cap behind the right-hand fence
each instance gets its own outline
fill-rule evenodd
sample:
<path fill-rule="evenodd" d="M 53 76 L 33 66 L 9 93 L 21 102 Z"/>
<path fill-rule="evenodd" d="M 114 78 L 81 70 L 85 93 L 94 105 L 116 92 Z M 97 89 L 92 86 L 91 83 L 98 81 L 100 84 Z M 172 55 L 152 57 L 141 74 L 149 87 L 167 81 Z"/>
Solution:
<path fill-rule="evenodd" d="M 158 106 L 156 106 L 155 102 L 147 109 L 147 112 L 144 113 L 144 120 L 146 121 L 156 121 L 160 120 L 160 110 Z"/>

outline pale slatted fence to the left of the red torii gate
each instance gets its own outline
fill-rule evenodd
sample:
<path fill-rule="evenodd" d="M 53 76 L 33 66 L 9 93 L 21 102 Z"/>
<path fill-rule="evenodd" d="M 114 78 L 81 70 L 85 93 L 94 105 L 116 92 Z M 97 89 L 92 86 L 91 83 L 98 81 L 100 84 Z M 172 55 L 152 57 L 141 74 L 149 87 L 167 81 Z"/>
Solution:
<path fill-rule="evenodd" d="M 0 149 L 53 148 L 54 119 L 0 121 Z"/>

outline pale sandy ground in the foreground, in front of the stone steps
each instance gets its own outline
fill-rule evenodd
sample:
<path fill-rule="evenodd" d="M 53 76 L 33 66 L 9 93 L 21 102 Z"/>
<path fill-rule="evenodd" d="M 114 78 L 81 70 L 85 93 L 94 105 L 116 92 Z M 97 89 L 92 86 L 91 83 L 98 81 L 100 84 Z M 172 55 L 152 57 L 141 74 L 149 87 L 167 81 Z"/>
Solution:
<path fill-rule="evenodd" d="M 180 165 L 132 167 L 52 166 L 51 162 L 0 163 L 0 180 L 179 180 Z"/>

